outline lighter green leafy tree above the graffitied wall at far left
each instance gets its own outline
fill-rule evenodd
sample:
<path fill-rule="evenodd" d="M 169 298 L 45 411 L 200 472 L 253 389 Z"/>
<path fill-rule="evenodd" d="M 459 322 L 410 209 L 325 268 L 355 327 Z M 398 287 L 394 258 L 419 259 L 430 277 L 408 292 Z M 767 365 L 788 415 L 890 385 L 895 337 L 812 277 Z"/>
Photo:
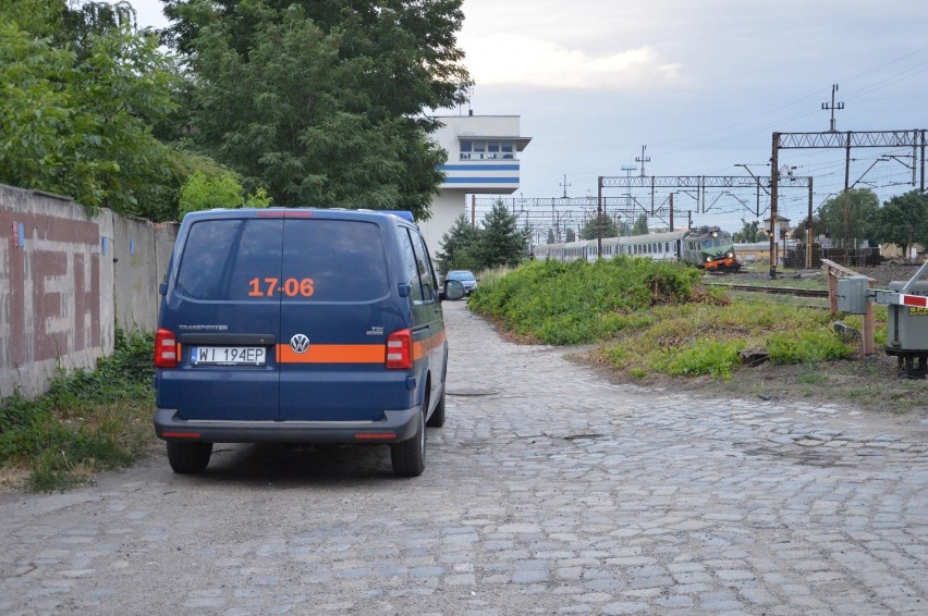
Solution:
<path fill-rule="evenodd" d="M 130 26 L 89 35 L 81 60 L 0 24 L 0 181 L 120 213 L 170 210 L 174 155 L 150 128 L 175 74 L 157 37 Z"/>

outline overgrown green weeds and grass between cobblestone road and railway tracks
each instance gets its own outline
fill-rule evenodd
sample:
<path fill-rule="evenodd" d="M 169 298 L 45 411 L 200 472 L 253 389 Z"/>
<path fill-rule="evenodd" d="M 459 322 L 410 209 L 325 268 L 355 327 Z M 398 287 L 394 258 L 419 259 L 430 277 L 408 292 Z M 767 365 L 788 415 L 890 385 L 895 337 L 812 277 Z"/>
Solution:
<path fill-rule="evenodd" d="M 705 287 L 695 269 L 625 256 L 532 262 L 502 278 L 484 276 L 469 305 L 524 340 L 605 342 L 601 358 L 636 379 L 726 380 L 740 369 L 741 352 L 753 348 L 767 349 L 774 364 L 811 365 L 856 353 L 833 333 L 826 310 L 730 299 Z"/>

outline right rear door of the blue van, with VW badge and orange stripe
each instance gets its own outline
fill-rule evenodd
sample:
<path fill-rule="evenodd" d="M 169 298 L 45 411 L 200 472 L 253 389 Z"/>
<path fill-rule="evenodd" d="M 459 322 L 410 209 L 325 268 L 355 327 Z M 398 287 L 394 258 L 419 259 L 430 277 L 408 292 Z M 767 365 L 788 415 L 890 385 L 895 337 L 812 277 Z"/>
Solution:
<path fill-rule="evenodd" d="M 284 221 L 281 420 L 376 421 L 412 406 L 407 374 L 386 368 L 387 337 L 408 327 L 391 284 L 389 229 L 382 214 Z"/>

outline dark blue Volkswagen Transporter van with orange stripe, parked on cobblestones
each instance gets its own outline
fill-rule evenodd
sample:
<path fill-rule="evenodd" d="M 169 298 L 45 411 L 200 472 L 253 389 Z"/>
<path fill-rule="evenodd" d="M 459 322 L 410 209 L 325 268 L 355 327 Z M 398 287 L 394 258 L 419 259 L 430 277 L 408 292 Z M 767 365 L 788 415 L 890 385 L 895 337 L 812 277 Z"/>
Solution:
<path fill-rule="evenodd" d="M 411 218 L 411 217 L 407 217 Z M 211 210 L 184 217 L 155 346 L 155 431 L 175 472 L 213 443 L 387 443 L 425 469 L 444 423 L 448 341 L 418 227 L 390 212 Z"/>

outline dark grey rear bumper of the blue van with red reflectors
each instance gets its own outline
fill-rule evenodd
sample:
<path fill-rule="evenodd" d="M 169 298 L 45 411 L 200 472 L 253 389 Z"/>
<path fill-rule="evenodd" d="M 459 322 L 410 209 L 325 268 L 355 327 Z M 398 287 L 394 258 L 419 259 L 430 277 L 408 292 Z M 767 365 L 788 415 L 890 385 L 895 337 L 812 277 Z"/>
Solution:
<path fill-rule="evenodd" d="M 412 439 L 419 407 L 386 410 L 380 421 L 203 421 L 155 411 L 155 433 L 166 441 L 205 443 L 399 443 Z"/>

